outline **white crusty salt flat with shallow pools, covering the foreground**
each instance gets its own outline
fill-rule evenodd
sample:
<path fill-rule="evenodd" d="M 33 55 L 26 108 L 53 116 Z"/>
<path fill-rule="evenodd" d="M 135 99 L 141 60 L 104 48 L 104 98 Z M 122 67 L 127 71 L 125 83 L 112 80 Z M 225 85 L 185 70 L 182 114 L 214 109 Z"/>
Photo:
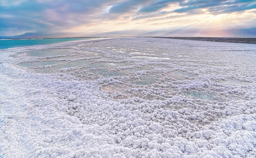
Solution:
<path fill-rule="evenodd" d="M 255 44 L 140 37 L 0 56 L 0 157 L 256 157 Z"/>

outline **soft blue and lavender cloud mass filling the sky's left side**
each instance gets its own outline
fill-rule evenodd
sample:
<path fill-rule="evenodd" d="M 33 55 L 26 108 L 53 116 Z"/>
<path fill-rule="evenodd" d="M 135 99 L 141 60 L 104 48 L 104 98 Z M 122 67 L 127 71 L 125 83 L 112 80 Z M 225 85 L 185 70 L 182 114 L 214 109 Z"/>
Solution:
<path fill-rule="evenodd" d="M 18 3 L 19 2 L 19 3 Z M 20 0 L 1 1 L 0 35 L 6 27 L 23 32 L 56 32 L 69 27 L 90 23 L 97 19 L 100 9 L 116 1 L 67 1 L 62 0 Z M 15 4 L 14 4 L 15 3 Z M 5 16 L 4 16 L 5 15 Z M 9 18 L 6 18 L 9 16 Z"/>

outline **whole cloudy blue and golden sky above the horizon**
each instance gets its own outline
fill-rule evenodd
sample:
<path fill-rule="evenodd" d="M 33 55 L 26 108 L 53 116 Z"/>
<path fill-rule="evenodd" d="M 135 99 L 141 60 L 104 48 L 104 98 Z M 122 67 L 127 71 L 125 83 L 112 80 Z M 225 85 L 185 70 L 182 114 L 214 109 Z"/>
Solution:
<path fill-rule="evenodd" d="M 0 0 L 0 36 L 256 37 L 256 0 Z"/>

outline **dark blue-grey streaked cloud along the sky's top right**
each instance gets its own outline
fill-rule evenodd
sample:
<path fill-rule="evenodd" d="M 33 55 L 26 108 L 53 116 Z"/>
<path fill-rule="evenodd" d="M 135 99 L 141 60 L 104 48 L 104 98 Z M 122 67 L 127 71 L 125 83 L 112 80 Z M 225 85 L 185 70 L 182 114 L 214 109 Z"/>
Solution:
<path fill-rule="evenodd" d="M 171 4 L 177 4 L 180 8 L 173 11 L 163 10 Z M 141 7 L 132 20 L 143 18 L 158 19 L 156 17 L 162 17 L 164 14 L 168 13 L 186 13 L 186 15 L 199 14 L 204 12 L 202 9 L 206 9 L 205 11 L 209 14 L 217 15 L 255 8 L 255 0 L 155 0 L 154 2 Z"/>

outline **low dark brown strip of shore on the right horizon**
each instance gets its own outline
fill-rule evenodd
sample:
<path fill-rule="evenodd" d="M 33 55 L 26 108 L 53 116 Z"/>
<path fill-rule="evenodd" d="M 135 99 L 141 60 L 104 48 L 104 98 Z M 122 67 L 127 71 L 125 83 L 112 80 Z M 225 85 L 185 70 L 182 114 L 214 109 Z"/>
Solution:
<path fill-rule="evenodd" d="M 233 42 L 233 43 L 250 43 L 256 44 L 256 38 L 232 38 L 232 37 L 155 37 L 155 38 L 171 38 L 179 40 L 198 40 L 213 42 Z"/>

